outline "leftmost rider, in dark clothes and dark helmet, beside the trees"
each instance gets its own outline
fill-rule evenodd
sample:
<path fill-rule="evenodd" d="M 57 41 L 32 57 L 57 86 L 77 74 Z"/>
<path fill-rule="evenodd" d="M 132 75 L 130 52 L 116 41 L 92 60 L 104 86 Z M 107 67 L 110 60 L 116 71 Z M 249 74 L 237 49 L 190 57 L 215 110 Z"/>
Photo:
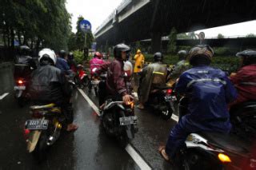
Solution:
<path fill-rule="evenodd" d="M 35 61 L 30 57 L 30 47 L 21 45 L 19 47 L 19 54 L 15 58 L 14 78 L 24 77 L 29 79 L 31 73 L 30 68 L 37 68 Z"/>

